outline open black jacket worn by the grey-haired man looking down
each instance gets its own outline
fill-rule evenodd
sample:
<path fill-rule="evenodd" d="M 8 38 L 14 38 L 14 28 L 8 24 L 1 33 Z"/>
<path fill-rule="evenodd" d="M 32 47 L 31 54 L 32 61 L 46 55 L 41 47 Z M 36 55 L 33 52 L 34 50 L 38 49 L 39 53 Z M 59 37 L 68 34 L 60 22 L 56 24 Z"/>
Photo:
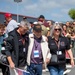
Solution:
<path fill-rule="evenodd" d="M 11 56 L 13 62 L 15 63 L 15 66 L 18 67 L 18 60 L 19 60 L 19 44 L 18 44 L 18 37 L 16 34 L 16 30 L 13 30 L 9 33 L 8 38 L 6 39 L 6 56 Z M 25 34 L 25 60 L 27 58 L 27 51 L 28 51 L 28 45 L 29 45 L 29 38 L 28 33 Z"/>

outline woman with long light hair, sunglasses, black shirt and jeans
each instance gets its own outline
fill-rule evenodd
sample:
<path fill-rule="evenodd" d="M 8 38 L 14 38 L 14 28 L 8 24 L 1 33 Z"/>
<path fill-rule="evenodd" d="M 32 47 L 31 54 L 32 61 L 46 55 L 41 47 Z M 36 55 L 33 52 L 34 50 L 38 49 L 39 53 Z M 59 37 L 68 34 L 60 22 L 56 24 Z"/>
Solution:
<path fill-rule="evenodd" d="M 63 75 L 65 69 L 65 50 L 68 52 L 71 65 L 74 66 L 73 54 L 70 49 L 70 44 L 68 38 L 64 37 L 62 34 L 62 27 L 59 23 L 55 23 L 50 31 L 50 36 L 48 37 L 48 46 L 50 48 L 50 52 L 56 57 L 53 59 L 57 59 L 56 61 L 50 61 L 48 64 L 48 69 L 50 75 Z"/>

